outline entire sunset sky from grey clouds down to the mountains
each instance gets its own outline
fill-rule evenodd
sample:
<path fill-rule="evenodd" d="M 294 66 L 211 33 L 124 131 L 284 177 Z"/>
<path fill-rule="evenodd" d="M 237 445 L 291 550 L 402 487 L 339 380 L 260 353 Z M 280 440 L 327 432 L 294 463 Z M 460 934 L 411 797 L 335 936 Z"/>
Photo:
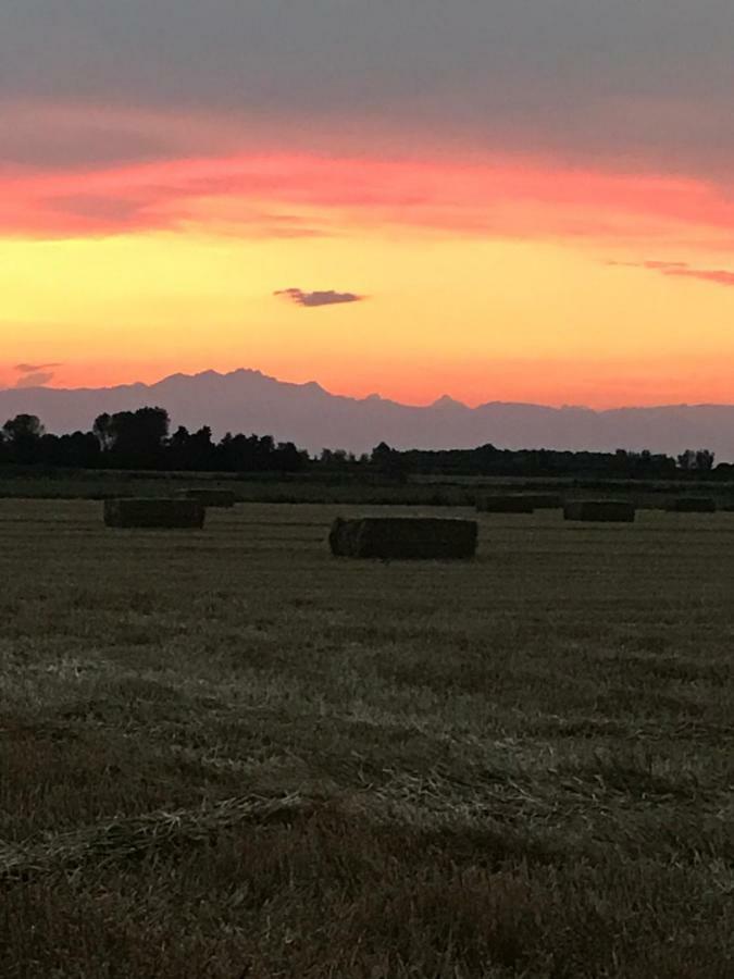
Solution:
<path fill-rule="evenodd" d="M 734 401 L 731 0 L 4 0 L 0 386 Z"/>

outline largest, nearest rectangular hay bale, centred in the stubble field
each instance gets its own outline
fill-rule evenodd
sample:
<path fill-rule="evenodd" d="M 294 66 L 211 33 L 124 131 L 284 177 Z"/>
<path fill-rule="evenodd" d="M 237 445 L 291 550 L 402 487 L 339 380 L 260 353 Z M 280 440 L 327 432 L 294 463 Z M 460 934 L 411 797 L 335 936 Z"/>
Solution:
<path fill-rule="evenodd" d="M 328 535 L 339 557 L 387 559 L 460 559 L 476 554 L 474 520 L 438 517 L 337 518 Z"/>

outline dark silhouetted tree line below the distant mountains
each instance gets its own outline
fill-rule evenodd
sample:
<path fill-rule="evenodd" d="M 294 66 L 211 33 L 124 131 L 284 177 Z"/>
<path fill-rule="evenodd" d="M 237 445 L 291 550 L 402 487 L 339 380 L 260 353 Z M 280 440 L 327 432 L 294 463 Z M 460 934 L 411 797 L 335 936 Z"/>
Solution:
<path fill-rule="evenodd" d="M 606 479 L 734 478 L 734 466 L 714 467 L 713 453 L 688 449 L 677 457 L 650 451 L 558 451 L 552 449 L 500 449 L 483 445 L 474 449 L 399 451 L 386 443 L 372 453 L 324 449 L 312 457 L 293 442 L 275 442 L 270 435 L 227 433 L 219 442 L 203 425 L 189 432 L 183 425 L 171 431 L 163 408 L 139 408 L 100 414 L 88 432 L 48 433 L 36 416 L 18 414 L 0 430 L 0 464 L 65 469 L 171 470 L 200 472 L 321 471 L 366 473 L 402 481 L 415 475 L 590 476 Z"/>

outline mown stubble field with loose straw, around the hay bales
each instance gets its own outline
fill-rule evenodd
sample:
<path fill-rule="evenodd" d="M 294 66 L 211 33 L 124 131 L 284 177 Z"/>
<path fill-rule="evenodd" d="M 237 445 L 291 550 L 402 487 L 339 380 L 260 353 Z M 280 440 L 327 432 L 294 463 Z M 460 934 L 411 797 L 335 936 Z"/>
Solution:
<path fill-rule="evenodd" d="M 731 979 L 734 513 L 370 511 L 0 500 L 3 979 Z"/>

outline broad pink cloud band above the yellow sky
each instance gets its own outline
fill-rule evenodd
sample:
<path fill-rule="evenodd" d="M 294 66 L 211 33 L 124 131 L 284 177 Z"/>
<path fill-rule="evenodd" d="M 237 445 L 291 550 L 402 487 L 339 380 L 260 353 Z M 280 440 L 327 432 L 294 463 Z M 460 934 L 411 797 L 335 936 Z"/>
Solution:
<path fill-rule="evenodd" d="M 11 109 L 0 103 L 0 116 L 27 128 L 28 107 Z M 497 154 L 475 154 L 469 162 L 445 147 L 425 147 L 421 159 L 378 151 L 320 156 L 284 151 L 257 132 L 246 146 L 225 120 L 102 108 L 43 111 L 35 117 L 38 126 L 77 134 L 87 140 L 89 157 L 70 159 L 64 149 L 43 164 L 49 152 L 41 147 L 30 163 L 0 166 L 0 235 L 84 237 L 203 227 L 270 238 L 393 226 L 441 235 L 620 245 L 665 240 L 713 248 L 731 246 L 734 236 L 734 201 L 717 184 L 693 177 Z M 104 140 L 113 137 L 120 159 L 109 162 Z M 258 142 L 270 149 L 253 149 Z M 200 154 L 204 144 L 211 156 Z"/>

